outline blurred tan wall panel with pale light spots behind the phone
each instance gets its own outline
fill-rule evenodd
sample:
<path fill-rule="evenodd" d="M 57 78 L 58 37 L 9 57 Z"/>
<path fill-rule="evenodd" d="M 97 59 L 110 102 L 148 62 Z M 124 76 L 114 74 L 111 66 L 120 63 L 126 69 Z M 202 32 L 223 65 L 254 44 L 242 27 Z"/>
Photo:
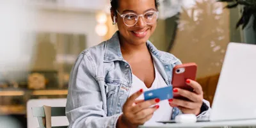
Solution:
<path fill-rule="evenodd" d="M 183 63 L 197 63 L 198 78 L 220 73 L 230 42 L 230 13 L 224 6 L 214 0 L 198 1 L 180 15 L 170 52 Z"/>

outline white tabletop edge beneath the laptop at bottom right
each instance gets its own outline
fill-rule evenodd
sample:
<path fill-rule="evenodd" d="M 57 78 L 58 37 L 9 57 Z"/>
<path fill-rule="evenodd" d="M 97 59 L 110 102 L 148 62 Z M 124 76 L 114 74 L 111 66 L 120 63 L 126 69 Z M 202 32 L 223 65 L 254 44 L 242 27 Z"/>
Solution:
<path fill-rule="evenodd" d="M 255 127 L 256 119 L 252 120 L 232 120 L 232 121 L 215 121 L 215 122 L 197 122 L 190 124 L 156 124 L 156 125 L 141 125 L 140 128 L 170 128 L 170 127 Z"/>

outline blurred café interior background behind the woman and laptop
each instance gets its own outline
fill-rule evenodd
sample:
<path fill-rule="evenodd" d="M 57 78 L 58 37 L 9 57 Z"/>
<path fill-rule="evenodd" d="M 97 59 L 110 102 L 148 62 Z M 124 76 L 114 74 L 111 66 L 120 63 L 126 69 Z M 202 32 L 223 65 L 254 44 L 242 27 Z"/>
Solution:
<path fill-rule="evenodd" d="M 197 80 L 212 102 L 228 42 L 255 43 L 254 17 L 236 29 L 242 6 L 228 9 L 215 0 L 159 3 L 150 40 L 182 63 L 197 63 Z M 29 99 L 67 97 L 77 55 L 117 30 L 109 8 L 110 0 L 0 1 L 0 118 L 26 127 Z"/>

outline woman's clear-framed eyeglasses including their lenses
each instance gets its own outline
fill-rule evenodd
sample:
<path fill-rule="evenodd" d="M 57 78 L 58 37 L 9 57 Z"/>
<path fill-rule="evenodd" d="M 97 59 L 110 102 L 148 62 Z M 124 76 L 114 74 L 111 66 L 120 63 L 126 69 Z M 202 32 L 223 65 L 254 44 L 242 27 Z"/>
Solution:
<path fill-rule="evenodd" d="M 135 24 L 137 24 L 139 17 L 142 17 L 143 21 L 146 24 L 154 24 L 157 20 L 158 17 L 158 13 L 156 11 L 148 11 L 144 14 L 136 14 L 136 13 L 125 13 L 125 14 L 120 14 L 117 10 L 116 12 L 120 15 L 120 17 L 123 18 L 124 20 L 124 24 L 126 26 L 134 26 Z"/>

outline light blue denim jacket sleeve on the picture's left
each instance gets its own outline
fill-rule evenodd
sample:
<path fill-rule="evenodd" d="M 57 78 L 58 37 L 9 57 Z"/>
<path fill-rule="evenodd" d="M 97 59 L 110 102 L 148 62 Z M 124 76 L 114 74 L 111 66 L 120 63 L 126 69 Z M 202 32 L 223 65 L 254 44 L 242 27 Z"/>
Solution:
<path fill-rule="evenodd" d="M 116 127 L 120 114 L 106 116 L 93 64 L 92 58 L 82 53 L 70 72 L 66 104 L 68 127 Z"/>

